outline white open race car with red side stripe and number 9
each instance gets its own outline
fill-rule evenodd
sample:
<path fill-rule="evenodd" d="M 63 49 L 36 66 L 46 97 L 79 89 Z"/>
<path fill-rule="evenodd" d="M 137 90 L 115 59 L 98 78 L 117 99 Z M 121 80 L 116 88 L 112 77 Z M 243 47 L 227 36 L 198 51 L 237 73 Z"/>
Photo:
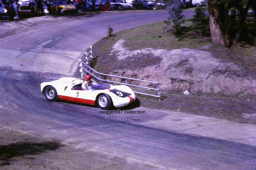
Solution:
<path fill-rule="evenodd" d="M 126 106 L 136 99 L 134 92 L 126 85 L 108 85 L 100 83 L 91 90 L 83 90 L 83 81 L 73 77 L 64 77 L 55 81 L 41 83 L 41 91 L 48 101 L 57 99 L 74 103 L 98 105 L 103 110 Z"/>

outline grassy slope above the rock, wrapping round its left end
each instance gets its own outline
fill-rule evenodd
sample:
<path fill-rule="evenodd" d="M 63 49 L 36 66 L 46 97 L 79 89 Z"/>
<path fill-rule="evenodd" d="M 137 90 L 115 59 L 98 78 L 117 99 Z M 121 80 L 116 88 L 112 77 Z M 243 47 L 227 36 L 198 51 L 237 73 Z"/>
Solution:
<path fill-rule="evenodd" d="M 189 24 L 189 21 L 187 24 Z M 209 38 L 177 38 L 170 32 L 166 32 L 166 24 L 164 24 L 164 22 L 147 24 L 130 30 L 120 31 L 111 37 L 106 36 L 101 41 L 95 43 L 93 51 L 94 57 L 97 57 L 97 62 L 96 65 L 93 65 L 94 69 L 102 73 L 110 73 L 110 71 L 115 70 L 113 68 L 121 69 L 120 66 L 122 66 L 122 68 L 126 67 L 132 69 L 146 66 L 145 63 L 136 62 L 136 59 L 134 59 L 134 62 L 128 63 L 118 60 L 115 55 L 109 55 L 112 50 L 112 46 L 122 39 L 125 40 L 123 44 L 124 47 L 128 48 L 130 51 L 144 48 L 167 50 L 182 48 L 193 49 L 211 44 Z M 112 62 L 109 62 L 110 57 Z M 146 62 L 143 57 L 142 59 L 143 60 L 140 61 Z M 157 59 L 156 62 L 160 62 L 160 59 Z M 147 63 L 152 62 L 150 61 Z"/>

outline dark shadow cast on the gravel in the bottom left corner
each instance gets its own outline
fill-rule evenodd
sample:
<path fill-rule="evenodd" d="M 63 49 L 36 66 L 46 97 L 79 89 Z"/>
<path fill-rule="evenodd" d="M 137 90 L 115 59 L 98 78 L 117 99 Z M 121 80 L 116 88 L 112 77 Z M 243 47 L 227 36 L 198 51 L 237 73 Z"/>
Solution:
<path fill-rule="evenodd" d="M 36 155 L 47 150 L 57 150 L 63 146 L 60 142 L 18 142 L 0 145 L 0 166 L 10 165 L 12 158 L 18 156 Z"/>

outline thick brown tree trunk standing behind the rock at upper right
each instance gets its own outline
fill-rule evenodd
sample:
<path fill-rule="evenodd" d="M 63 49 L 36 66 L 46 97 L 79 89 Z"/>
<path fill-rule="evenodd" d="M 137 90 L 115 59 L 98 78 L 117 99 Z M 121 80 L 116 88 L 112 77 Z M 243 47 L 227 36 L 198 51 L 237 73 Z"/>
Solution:
<path fill-rule="evenodd" d="M 222 45 L 230 47 L 228 29 L 226 26 L 228 12 L 218 7 L 214 7 L 208 3 L 210 30 L 212 36 L 212 44 L 214 46 Z"/>

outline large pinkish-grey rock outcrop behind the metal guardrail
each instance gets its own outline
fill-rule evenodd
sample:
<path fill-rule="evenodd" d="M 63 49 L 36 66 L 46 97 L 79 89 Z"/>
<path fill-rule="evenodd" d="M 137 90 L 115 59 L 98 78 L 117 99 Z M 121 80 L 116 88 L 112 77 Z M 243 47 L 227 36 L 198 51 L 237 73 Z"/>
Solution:
<path fill-rule="evenodd" d="M 156 57 L 158 62 L 142 68 L 115 70 L 119 75 L 133 75 L 133 78 L 158 81 L 160 88 L 168 91 L 188 90 L 190 93 L 224 95 L 256 94 L 256 79 L 248 75 L 246 69 L 215 58 L 209 52 L 195 49 L 168 51 L 149 48 L 129 51 L 122 43 L 124 40 L 118 41 L 110 55 L 116 55 L 118 60 L 132 62 L 136 56 L 150 54 L 149 61 L 152 61 L 153 56 L 153 60 Z"/>

